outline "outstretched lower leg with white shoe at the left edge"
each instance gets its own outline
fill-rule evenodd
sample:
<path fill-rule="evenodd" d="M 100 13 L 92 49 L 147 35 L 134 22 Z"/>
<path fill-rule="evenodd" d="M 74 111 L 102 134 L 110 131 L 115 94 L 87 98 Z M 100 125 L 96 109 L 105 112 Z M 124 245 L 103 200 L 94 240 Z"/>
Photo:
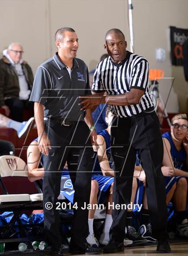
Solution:
<path fill-rule="evenodd" d="M 28 121 L 17 122 L 0 113 L 0 127 L 12 128 L 17 131 L 18 138 L 27 135 L 28 131 L 34 126 L 34 117 Z"/>

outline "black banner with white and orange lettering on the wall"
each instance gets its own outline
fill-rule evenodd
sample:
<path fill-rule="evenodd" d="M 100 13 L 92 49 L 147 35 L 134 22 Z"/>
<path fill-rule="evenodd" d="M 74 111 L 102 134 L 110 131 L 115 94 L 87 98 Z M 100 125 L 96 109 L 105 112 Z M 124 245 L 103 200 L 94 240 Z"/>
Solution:
<path fill-rule="evenodd" d="M 183 45 L 188 40 L 188 29 L 170 27 L 171 35 L 171 63 L 183 66 Z"/>

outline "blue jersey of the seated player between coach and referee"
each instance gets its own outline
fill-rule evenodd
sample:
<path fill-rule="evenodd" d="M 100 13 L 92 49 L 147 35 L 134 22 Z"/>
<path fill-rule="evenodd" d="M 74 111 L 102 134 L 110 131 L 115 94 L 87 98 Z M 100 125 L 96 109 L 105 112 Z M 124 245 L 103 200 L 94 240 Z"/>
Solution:
<path fill-rule="evenodd" d="M 114 169 L 113 168 L 113 160 L 112 160 L 112 156 L 111 156 L 111 136 L 109 135 L 109 133 L 107 132 L 107 130 L 101 130 L 100 132 L 97 133 L 97 135 L 101 135 L 103 136 L 104 140 L 105 140 L 105 143 L 106 143 L 106 153 L 107 153 L 107 158 L 108 158 L 108 161 L 109 161 L 109 165 L 110 165 L 110 168 L 111 169 Z M 100 164 L 98 162 L 98 156 L 97 156 L 97 153 L 96 153 L 96 156 L 95 156 L 95 159 L 94 159 L 94 169 L 93 169 L 93 173 L 95 174 L 100 174 L 100 175 L 103 175 L 102 171 L 101 171 L 101 167 L 100 167 Z"/>

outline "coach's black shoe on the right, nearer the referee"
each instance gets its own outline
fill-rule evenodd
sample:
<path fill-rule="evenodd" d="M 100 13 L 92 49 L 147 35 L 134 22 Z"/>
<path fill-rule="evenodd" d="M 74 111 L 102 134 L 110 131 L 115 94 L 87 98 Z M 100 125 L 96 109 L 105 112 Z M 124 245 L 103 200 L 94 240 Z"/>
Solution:
<path fill-rule="evenodd" d="M 96 247 L 91 247 L 89 243 L 84 243 L 83 247 L 78 247 L 78 246 L 71 246 L 69 252 L 71 254 L 87 254 L 87 255 L 92 255 L 92 254 L 102 254 L 103 251 L 100 248 Z"/>

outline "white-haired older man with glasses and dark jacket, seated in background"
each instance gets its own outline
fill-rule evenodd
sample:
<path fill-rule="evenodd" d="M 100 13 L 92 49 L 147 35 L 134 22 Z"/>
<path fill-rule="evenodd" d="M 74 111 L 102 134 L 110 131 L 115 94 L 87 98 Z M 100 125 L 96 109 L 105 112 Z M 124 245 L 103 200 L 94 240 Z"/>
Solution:
<path fill-rule="evenodd" d="M 33 73 L 30 66 L 22 59 L 23 48 L 18 43 L 11 43 L 3 51 L 0 59 L 0 107 L 5 115 L 15 121 L 23 121 L 24 108 L 33 108 L 29 103 L 33 85 Z"/>

